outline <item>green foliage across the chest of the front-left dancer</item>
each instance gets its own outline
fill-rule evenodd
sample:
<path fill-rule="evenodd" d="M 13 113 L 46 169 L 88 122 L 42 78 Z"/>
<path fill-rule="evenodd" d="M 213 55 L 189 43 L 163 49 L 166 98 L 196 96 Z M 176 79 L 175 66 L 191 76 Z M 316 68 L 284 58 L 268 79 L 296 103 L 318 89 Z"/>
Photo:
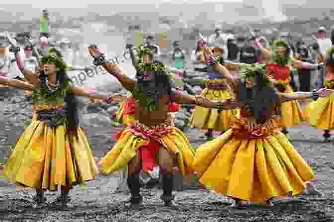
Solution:
<path fill-rule="evenodd" d="M 71 80 L 64 80 L 64 87 L 58 88 L 55 93 L 50 94 L 48 88 L 46 87 L 36 87 L 32 91 L 32 103 L 38 102 L 52 102 L 52 103 L 61 103 L 64 101 L 64 98 L 67 94 L 67 91 L 71 87 Z"/>

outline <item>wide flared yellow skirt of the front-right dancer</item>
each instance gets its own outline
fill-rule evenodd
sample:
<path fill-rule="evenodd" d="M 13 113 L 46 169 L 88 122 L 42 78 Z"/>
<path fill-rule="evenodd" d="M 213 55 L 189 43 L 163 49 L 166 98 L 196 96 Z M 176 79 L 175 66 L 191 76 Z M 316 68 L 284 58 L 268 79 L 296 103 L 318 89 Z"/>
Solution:
<path fill-rule="evenodd" d="M 246 125 L 246 121 L 239 125 Z M 237 125 L 238 125 L 237 124 Z M 238 126 L 239 127 L 239 126 Z M 193 168 L 200 182 L 223 195 L 253 203 L 300 194 L 315 178 L 310 166 L 278 130 L 258 138 L 235 136 L 242 127 L 201 145 Z M 260 132 L 256 128 L 256 133 Z"/>

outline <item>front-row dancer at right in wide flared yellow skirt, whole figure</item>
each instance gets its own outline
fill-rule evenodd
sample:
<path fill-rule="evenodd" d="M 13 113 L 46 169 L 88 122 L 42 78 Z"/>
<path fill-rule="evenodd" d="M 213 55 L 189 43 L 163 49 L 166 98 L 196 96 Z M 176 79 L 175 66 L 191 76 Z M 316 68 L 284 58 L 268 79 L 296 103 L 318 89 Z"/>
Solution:
<path fill-rule="evenodd" d="M 265 64 L 243 65 L 240 79 L 216 63 L 206 49 L 208 68 L 227 79 L 235 96 L 231 107 L 240 107 L 240 118 L 234 118 L 231 129 L 201 145 L 193 168 L 207 188 L 235 200 L 236 207 L 249 202 L 272 206 L 272 198 L 301 193 L 315 178 L 311 167 L 278 129 L 281 104 L 292 100 L 317 99 L 334 90 L 280 93 L 272 78 L 266 76 Z"/>

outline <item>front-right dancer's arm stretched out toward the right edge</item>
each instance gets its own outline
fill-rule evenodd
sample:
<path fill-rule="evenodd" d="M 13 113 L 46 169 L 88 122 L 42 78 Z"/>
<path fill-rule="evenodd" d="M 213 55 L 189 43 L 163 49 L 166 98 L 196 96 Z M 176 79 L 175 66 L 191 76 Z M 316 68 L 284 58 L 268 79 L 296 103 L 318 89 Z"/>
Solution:
<path fill-rule="evenodd" d="M 305 100 L 305 99 L 313 99 L 317 100 L 319 97 L 327 97 L 331 94 L 334 94 L 334 90 L 322 88 L 318 91 L 313 92 L 295 92 L 292 94 L 287 93 L 279 93 L 282 103 L 293 101 L 293 100 Z"/>

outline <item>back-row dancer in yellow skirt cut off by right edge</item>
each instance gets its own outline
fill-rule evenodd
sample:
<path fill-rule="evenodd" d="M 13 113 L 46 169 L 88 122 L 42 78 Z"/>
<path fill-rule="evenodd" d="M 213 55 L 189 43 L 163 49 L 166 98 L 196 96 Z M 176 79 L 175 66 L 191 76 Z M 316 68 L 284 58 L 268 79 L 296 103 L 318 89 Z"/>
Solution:
<path fill-rule="evenodd" d="M 331 47 L 326 55 L 325 87 L 334 89 L 334 47 Z M 330 131 L 334 129 L 334 96 L 311 102 L 304 113 L 311 126 L 325 131 L 323 136 L 327 142 L 331 137 Z"/>

